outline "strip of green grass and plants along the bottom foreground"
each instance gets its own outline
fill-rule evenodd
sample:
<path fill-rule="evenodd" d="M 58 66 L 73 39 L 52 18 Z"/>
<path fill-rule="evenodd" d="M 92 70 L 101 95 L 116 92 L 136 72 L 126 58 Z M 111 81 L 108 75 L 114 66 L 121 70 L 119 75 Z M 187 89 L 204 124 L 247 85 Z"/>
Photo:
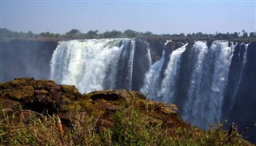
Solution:
<path fill-rule="evenodd" d="M 17 116 L 17 112 L 0 113 L 0 145 L 250 145 L 238 133 L 227 140 L 223 124 L 217 128 L 211 125 L 207 132 L 193 127 L 152 125 L 150 117 L 132 105 L 121 107 L 110 117 L 114 122 L 111 128 L 100 128 L 99 117 L 90 116 L 86 120 L 78 117 L 78 122 L 64 136 L 54 116 L 31 112 L 27 120 Z"/>

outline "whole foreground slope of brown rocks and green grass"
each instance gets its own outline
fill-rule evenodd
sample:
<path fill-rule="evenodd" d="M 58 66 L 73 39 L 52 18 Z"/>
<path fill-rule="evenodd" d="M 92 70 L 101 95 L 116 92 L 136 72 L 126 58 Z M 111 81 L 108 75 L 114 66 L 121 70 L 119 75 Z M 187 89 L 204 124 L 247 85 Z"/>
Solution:
<path fill-rule="evenodd" d="M 0 83 L 0 119 L 0 145 L 250 145 L 238 132 L 227 136 L 221 124 L 209 132 L 194 128 L 178 117 L 176 105 L 148 101 L 142 93 L 82 94 L 74 85 L 29 77 Z M 47 138 L 48 128 L 53 136 Z"/>

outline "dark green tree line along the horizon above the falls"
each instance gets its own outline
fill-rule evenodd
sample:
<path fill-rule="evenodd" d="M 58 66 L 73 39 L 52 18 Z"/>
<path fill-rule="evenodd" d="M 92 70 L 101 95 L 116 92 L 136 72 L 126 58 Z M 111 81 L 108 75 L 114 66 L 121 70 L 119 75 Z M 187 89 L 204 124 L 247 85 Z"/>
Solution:
<path fill-rule="evenodd" d="M 54 34 L 47 32 L 42 32 L 40 34 L 34 34 L 31 31 L 27 33 L 24 32 L 14 32 L 8 30 L 6 28 L 0 28 L 0 35 L 1 38 L 4 37 L 23 37 L 23 38 L 59 38 L 59 39 L 91 39 L 91 38 L 112 38 L 112 37 L 166 37 L 166 38 L 191 38 L 191 39 L 241 39 L 241 38 L 256 38 L 256 31 L 247 33 L 245 30 L 242 32 L 234 32 L 234 33 L 218 33 L 215 34 L 203 34 L 202 32 L 193 33 L 193 34 L 153 34 L 150 31 L 137 32 L 134 30 L 125 30 L 125 31 L 118 31 L 118 30 L 111 30 L 106 31 L 102 34 L 98 32 L 98 30 L 89 30 L 87 33 L 82 33 L 80 30 L 72 29 L 66 34 Z"/>

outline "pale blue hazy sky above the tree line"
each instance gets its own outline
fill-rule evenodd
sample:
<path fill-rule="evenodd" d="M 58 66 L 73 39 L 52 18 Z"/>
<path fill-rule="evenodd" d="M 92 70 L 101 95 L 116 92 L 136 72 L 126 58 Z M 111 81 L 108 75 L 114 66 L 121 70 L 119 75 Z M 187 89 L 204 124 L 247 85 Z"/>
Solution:
<path fill-rule="evenodd" d="M 18 32 L 131 29 L 154 34 L 214 34 L 256 30 L 256 0 L 0 1 L 1 28 Z"/>

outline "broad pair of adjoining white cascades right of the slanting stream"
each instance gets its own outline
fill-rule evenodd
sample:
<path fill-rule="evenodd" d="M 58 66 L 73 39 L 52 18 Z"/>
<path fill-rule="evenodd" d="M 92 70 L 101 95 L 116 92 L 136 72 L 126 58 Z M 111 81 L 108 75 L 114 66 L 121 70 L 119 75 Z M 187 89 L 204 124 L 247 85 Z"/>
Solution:
<path fill-rule="evenodd" d="M 229 46 L 228 41 L 214 41 L 208 49 L 206 42 L 199 41 L 194 44 L 194 48 L 198 49 L 199 53 L 190 79 L 190 88 L 182 116 L 192 124 L 208 128 L 208 124 L 221 119 L 222 101 L 234 45 Z M 207 53 L 214 53 L 214 57 L 206 58 Z M 210 61 L 211 59 L 214 61 Z M 210 78 L 203 78 L 209 77 L 202 76 L 203 72 L 207 72 L 202 70 L 203 66 L 213 66 Z M 211 81 L 211 85 L 205 86 L 208 80 Z"/>

